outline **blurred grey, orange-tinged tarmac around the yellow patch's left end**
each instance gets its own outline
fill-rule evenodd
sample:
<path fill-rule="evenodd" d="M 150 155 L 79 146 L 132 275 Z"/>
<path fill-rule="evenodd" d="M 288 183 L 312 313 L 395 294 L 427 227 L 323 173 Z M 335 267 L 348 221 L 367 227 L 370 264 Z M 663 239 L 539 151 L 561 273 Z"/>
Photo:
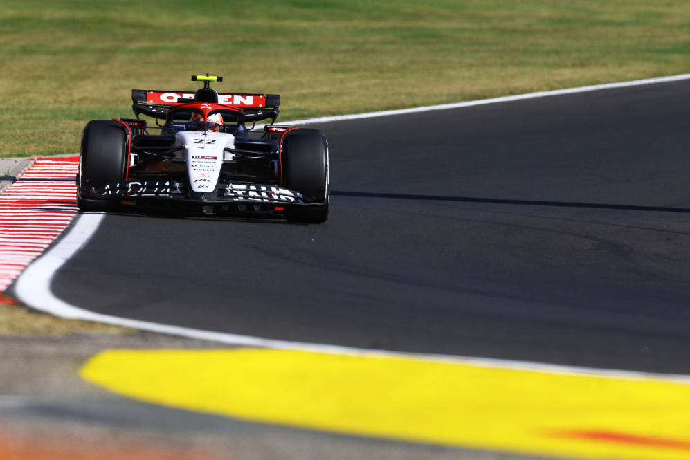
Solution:
<path fill-rule="evenodd" d="M 0 307 L 8 308 L 8 307 Z M 344 436 L 133 401 L 78 376 L 104 350 L 210 351 L 152 333 L 0 337 L 3 460 L 525 460 L 535 457 Z M 224 349 L 230 353 L 232 349 Z M 105 352 L 107 353 L 107 351 Z M 105 355 L 104 355 L 105 356 Z M 92 368 L 91 371 L 96 371 Z M 222 382 L 218 382 L 222 384 Z"/>

